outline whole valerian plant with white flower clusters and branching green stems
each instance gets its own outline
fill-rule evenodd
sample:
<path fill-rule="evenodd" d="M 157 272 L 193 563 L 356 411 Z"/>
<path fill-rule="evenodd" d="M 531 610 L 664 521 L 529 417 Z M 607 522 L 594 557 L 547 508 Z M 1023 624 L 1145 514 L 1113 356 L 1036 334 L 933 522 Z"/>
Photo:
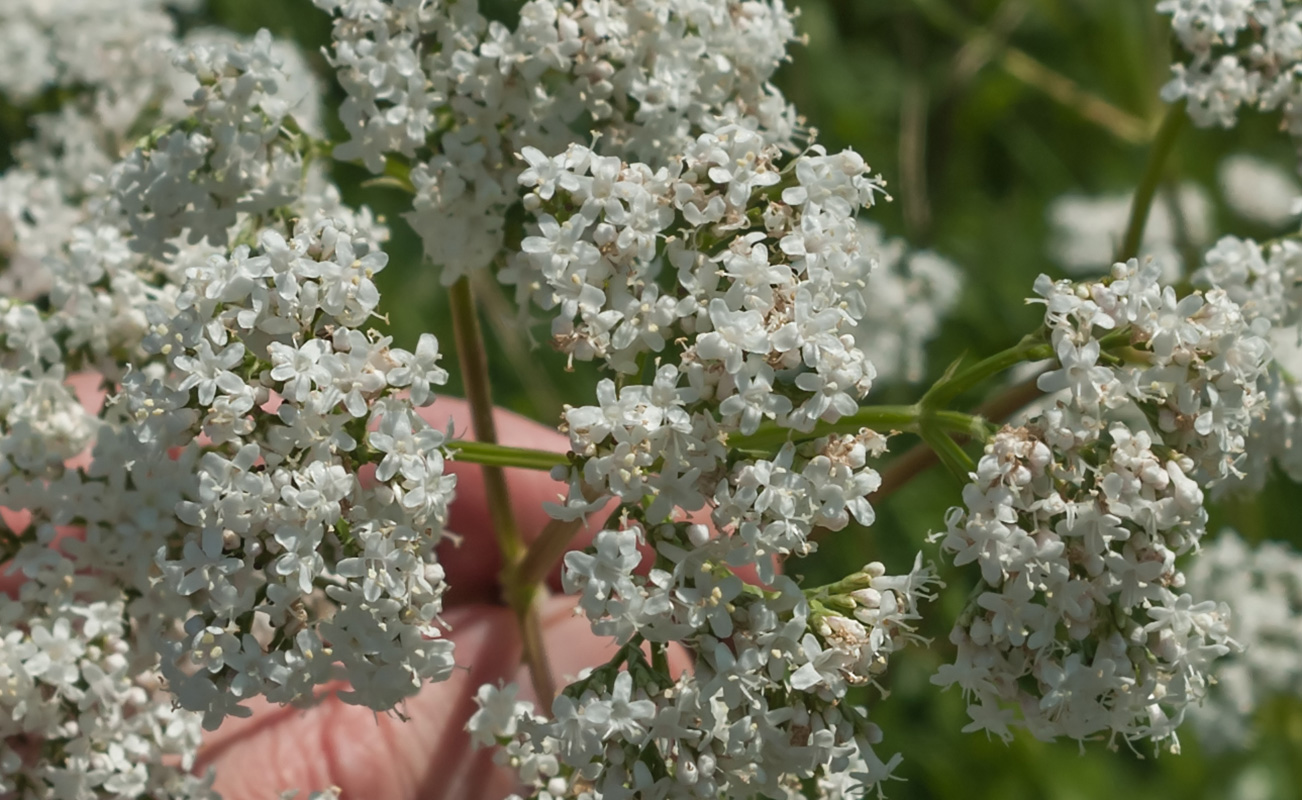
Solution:
<path fill-rule="evenodd" d="M 876 383 L 923 374 L 960 272 L 885 238 L 885 180 L 773 86 L 797 40 L 780 0 L 531 0 L 514 26 L 473 1 L 315 4 L 339 141 L 323 83 L 266 31 L 178 35 L 163 0 L 0 9 L 0 93 L 34 132 L 0 177 L 0 793 L 214 796 L 201 728 L 250 701 L 344 680 L 391 711 L 447 679 L 448 459 L 484 465 L 540 700 L 484 685 L 467 735 L 539 800 L 880 791 L 902 756 L 848 692 L 930 644 L 936 558 L 978 580 L 932 679 L 969 731 L 1178 750 L 1224 657 L 1249 646 L 1224 719 L 1266 680 L 1263 631 L 1292 629 L 1297 662 L 1297 556 L 1232 536 L 1182 556 L 1211 495 L 1272 461 L 1302 477 L 1302 390 L 1272 354 L 1297 340 L 1302 250 L 1223 238 L 1186 281 L 1138 248 L 1186 116 L 1282 108 L 1297 128 L 1302 7 L 1157 3 L 1187 57 L 1115 266 L 1042 276 L 1039 327 L 883 405 Z M 477 442 L 418 413 L 444 343 L 371 327 L 388 231 L 331 162 L 409 199 Z M 568 453 L 496 444 L 471 276 L 602 371 L 568 397 Z M 1016 422 L 957 408 L 1023 365 L 995 404 Z M 962 485 L 939 546 L 785 575 L 819 536 L 871 533 L 896 434 L 922 450 L 893 464 Z M 568 487 L 533 545 L 504 466 Z M 585 520 L 604 525 L 569 550 Z M 536 636 L 556 560 L 617 645 L 559 691 Z"/>

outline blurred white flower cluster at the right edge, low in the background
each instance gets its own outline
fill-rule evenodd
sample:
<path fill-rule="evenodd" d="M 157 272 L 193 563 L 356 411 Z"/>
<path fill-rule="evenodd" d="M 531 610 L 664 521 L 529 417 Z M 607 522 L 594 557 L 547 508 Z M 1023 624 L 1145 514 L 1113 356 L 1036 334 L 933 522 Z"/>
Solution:
<path fill-rule="evenodd" d="M 1302 696 L 1302 555 L 1224 530 L 1190 565 L 1189 588 L 1234 607 L 1230 633 L 1243 645 L 1217 664 L 1216 685 L 1189 718 L 1204 747 L 1246 747 L 1258 706 L 1273 694 Z"/>

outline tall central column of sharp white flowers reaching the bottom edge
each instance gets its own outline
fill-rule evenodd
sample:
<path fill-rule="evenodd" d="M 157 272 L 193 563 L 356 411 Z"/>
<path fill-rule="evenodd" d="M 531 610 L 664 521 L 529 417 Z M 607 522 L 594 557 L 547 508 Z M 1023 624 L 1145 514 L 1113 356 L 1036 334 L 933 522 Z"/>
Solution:
<path fill-rule="evenodd" d="M 773 563 L 810 552 L 815 528 L 872 522 L 868 459 L 884 438 L 730 450 L 766 420 L 785 438 L 854 413 L 875 375 L 854 336 L 872 267 L 854 218 L 881 185 L 853 152 L 780 156 L 736 124 L 659 168 L 581 145 L 523 151 L 538 221 L 503 279 L 555 310 L 557 348 L 618 374 L 598 405 L 565 410 L 577 464 L 555 513 L 611 495 L 625 507 L 564 573 L 621 655 L 566 689 L 551 721 L 516 705 L 508 722 L 513 704 L 490 694 L 495 717 L 475 723 L 484 740 L 514 734 L 508 757 L 539 796 L 794 796 L 801 779 L 854 796 L 893 769 L 872 752 L 880 732 L 841 700 L 913 638 L 930 569 L 887 577 L 872 564 L 806 599 Z M 667 521 L 707 506 L 716 538 Z M 656 554 L 648 575 L 635 572 L 639 545 Z M 733 575 L 746 565 L 776 592 Z M 686 645 L 695 672 L 672 679 L 642 642 Z"/>

